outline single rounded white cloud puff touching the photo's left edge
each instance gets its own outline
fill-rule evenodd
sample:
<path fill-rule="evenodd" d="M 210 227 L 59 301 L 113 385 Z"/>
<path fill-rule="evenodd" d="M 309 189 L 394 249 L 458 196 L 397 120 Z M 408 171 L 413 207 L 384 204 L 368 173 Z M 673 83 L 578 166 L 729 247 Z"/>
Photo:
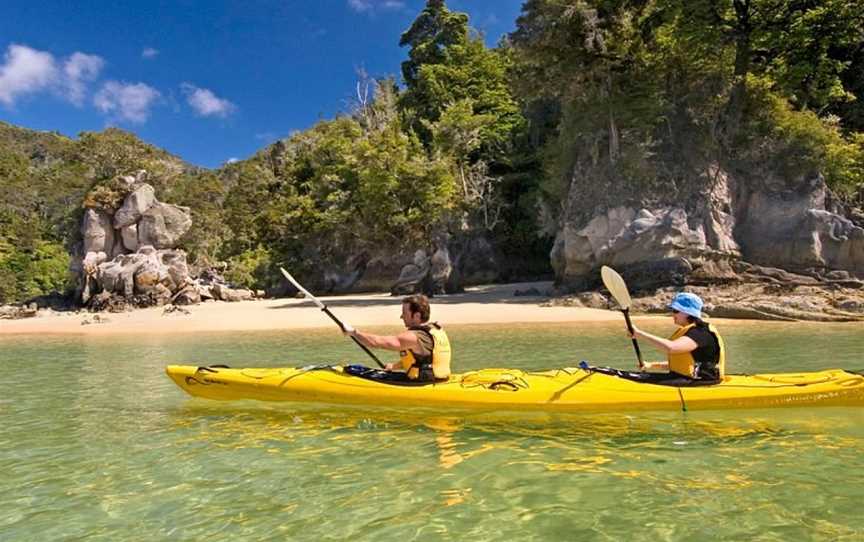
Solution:
<path fill-rule="evenodd" d="M 57 78 L 57 65 L 51 53 L 12 44 L 0 65 L 0 102 L 11 107 L 20 96 L 45 90 Z"/>

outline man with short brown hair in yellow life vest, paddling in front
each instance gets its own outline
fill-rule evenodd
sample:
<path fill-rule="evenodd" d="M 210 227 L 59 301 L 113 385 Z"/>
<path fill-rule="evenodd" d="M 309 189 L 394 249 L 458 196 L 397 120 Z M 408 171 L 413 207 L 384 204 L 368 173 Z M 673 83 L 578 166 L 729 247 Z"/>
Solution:
<path fill-rule="evenodd" d="M 450 340 L 437 322 L 430 322 L 429 299 L 423 294 L 402 300 L 405 331 L 375 335 L 345 324 L 343 333 L 369 348 L 399 352 L 399 361 L 388 363 L 386 380 L 440 382 L 450 377 Z"/>

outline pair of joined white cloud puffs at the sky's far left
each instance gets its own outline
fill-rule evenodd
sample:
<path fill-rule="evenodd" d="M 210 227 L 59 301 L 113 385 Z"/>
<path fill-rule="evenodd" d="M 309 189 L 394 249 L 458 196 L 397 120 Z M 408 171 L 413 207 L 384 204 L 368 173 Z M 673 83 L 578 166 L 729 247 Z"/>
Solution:
<path fill-rule="evenodd" d="M 99 76 L 104 65 L 96 55 L 76 51 L 61 62 L 47 51 L 12 44 L 0 64 L 0 102 L 11 107 L 22 96 L 51 90 L 80 106 L 87 84 Z"/>

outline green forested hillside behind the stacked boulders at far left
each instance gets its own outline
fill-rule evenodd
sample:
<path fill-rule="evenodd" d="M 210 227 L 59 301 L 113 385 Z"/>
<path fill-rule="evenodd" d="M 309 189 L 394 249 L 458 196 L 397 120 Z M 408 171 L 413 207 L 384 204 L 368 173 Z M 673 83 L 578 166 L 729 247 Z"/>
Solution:
<path fill-rule="evenodd" d="M 169 201 L 204 186 L 206 178 L 122 130 L 72 140 L 0 123 L 0 303 L 66 292 L 82 206 L 116 206 L 124 195 L 116 176 L 139 169 L 151 173 L 159 196 Z M 206 203 L 190 200 L 197 210 Z M 202 219 L 190 232 L 193 250 L 206 227 Z"/>

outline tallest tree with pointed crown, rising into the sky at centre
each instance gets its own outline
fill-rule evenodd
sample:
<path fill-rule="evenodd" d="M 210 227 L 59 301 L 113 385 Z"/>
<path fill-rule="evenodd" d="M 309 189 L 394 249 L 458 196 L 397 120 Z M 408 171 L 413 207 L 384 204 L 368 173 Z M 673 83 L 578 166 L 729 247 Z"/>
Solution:
<path fill-rule="evenodd" d="M 486 47 L 468 16 L 440 0 L 426 3 L 400 45 L 409 48 L 399 100 L 406 126 L 430 153 L 453 161 L 463 224 L 521 254 L 514 260 L 546 262 L 550 242 L 536 223 L 542 174 L 511 88 L 512 48 Z"/>

